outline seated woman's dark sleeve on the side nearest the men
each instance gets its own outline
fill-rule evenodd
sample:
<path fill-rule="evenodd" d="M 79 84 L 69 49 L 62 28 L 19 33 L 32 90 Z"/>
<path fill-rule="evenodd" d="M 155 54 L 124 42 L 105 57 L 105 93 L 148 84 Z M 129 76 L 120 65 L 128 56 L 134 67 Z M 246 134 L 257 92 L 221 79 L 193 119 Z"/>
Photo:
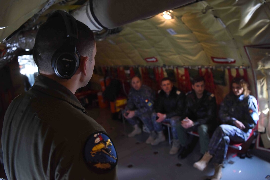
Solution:
<path fill-rule="evenodd" d="M 229 115 L 229 108 L 230 108 L 230 105 L 229 105 L 229 102 L 232 101 L 230 99 L 230 96 L 226 96 L 224 98 L 224 100 L 222 101 L 222 103 L 220 104 L 220 110 L 218 112 L 219 114 L 219 117 L 220 117 L 220 120 L 222 123 L 225 123 L 225 124 L 231 124 L 231 125 L 235 125 L 235 121 L 237 120 L 235 117 L 232 117 Z"/>

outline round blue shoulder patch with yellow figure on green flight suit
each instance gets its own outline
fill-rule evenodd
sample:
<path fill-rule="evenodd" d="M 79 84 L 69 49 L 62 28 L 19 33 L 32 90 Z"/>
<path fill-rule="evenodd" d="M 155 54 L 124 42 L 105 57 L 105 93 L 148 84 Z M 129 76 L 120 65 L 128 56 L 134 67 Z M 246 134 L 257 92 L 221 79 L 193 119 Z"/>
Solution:
<path fill-rule="evenodd" d="M 89 136 L 84 156 L 88 167 L 96 173 L 109 172 L 117 164 L 117 153 L 109 136 L 101 132 Z"/>

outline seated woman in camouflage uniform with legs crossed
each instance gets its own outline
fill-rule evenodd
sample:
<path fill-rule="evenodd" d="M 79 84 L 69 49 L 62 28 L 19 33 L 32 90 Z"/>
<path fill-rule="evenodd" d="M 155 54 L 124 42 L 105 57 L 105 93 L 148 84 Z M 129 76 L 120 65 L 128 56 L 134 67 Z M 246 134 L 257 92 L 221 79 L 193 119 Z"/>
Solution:
<path fill-rule="evenodd" d="M 230 141 L 239 143 L 247 141 L 259 120 L 257 100 L 249 95 L 247 82 L 241 78 L 235 78 L 232 80 L 231 87 L 231 92 L 220 106 L 219 117 L 223 124 L 215 130 L 208 152 L 193 165 L 203 171 L 215 155 L 215 174 L 211 177 L 212 179 L 220 179 L 222 176 L 222 163 Z"/>

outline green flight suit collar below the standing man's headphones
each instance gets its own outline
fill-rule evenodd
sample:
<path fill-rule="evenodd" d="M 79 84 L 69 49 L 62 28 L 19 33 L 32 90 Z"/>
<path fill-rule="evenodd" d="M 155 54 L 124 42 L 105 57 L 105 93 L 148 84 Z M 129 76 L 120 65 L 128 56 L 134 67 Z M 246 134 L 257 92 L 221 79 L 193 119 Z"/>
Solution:
<path fill-rule="evenodd" d="M 38 75 L 32 88 L 42 93 L 48 94 L 49 96 L 67 101 L 69 104 L 81 109 L 85 113 L 85 108 L 82 107 L 82 104 L 77 99 L 77 97 L 68 88 L 62 84 L 59 84 L 55 80 L 42 75 Z"/>

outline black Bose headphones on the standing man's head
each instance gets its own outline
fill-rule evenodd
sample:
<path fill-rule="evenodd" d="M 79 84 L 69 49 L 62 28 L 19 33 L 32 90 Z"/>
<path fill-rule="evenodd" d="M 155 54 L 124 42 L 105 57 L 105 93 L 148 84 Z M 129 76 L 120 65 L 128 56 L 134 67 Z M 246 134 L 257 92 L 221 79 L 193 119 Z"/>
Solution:
<path fill-rule="evenodd" d="M 65 24 L 66 37 L 63 45 L 57 49 L 52 56 L 51 65 L 56 76 L 70 79 L 79 68 L 80 54 L 76 48 L 78 40 L 78 28 L 76 19 L 64 11 L 55 11 L 48 19 L 60 17 Z"/>

